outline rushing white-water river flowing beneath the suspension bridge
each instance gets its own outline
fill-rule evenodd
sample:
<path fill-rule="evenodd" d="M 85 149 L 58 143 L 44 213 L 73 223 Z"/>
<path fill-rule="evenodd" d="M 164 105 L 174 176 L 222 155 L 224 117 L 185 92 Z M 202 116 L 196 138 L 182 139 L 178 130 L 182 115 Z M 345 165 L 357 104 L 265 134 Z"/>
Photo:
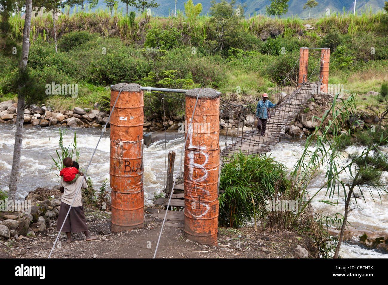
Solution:
<path fill-rule="evenodd" d="M 12 125 L 0 124 L 0 188 L 8 190 L 9 175 L 12 167 L 12 154 L 14 145 L 14 132 Z M 81 128 L 76 129 L 77 147 L 80 150 L 80 166 L 86 168 L 87 163 L 99 140 L 101 129 Z M 89 167 L 88 175 L 98 190 L 104 180 L 109 179 L 109 129 L 103 134 L 92 164 Z M 64 146 L 67 147 L 73 142 L 74 130 L 67 129 L 64 136 Z M 230 141 L 229 141 L 230 142 Z M 292 169 L 300 153 L 303 151 L 303 140 L 285 140 L 272 148 L 271 156 L 282 162 L 288 169 Z M 179 167 L 180 155 L 182 152 L 182 139 L 170 140 L 166 143 L 167 152 L 176 152 L 175 168 Z M 220 139 L 220 147 L 225 147 L 225 140 Z M 58 178 L 55 173 L 59 170 L 53 168 L 56 158 L 55 150 L 59 150 L 59 131 L 57 127 L 31 127 L 23 129 L 23 145 L 20 164 L 20 176 L 18 179 L 18 195 L 24 198 L 28 192 L 39 186 L 53 187 L 57 184 Z M 144 147 L 144 195 L 145 203 L 154 197 L 154 193 L 160 193 L 165 181 L 165 143 L 152 143 L 148 148 Z M 183 163 L 183 162 L 182 162 Z M 183 166 L 182 166 L 183 170 Z M 176 171 L 176 170 L 175 170 Z M 315 193 L 322 185 L 324 174 L 315 178 L 309 185 L 309 192 Z M 109 185 L 109 183 L 108 183 Z M 377 197 L 377 199 L 376 199 Z M 321 191 L 314 200 L 327 200 L 324 192 Z M 388 231 L 388 197 L 382 197 L 380 204 L 378 195 L 375 201 L 365 193 L 366 203 L 359 199 L 360 207 L 350 212 L 348 221 L 353 227 L 369 231 Z M 342 212 L 344 201 L 339 200 L 338 206 L 313 202 L 314 210 L 324 214 Z M 382 254 L 376 250 L 368 250 L 359 245 L 343 243 L 340 255 L 345 258 L 388 258 L 388 254 Z"/>

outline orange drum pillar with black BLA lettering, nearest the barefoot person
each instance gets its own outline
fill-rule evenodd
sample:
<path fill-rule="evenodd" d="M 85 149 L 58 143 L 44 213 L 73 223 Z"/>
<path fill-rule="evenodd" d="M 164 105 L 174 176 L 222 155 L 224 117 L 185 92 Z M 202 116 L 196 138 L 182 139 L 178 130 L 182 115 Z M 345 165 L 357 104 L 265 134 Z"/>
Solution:
<path fill-rule="evenodd" d="M 143 91 L 138 84 L 111 87 L 112 231 L 144 225 L 143 193 Z"/>

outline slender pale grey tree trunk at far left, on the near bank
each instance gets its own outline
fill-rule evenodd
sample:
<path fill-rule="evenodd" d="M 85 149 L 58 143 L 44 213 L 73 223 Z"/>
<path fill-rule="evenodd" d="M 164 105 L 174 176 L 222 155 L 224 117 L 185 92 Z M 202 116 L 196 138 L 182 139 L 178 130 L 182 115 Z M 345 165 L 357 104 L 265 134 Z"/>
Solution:
<path fill-rule="evenodd" d="M 24 73 L 28 62 L 29 52 L 29 33 L 31 29 L 32 0 L 26 0 L 26 18 L 23 29 L 23 48 L 19 63 L 19 71 Z M 19 176 L 20 156 L 23 140 L 23 121 L 24 121 L 24 94 L 21 89 L 25 83 L 19 83 L 19 93 L 17 95 L 17 115 L 16 115 L 16 133 L 14 144 L 14 157 L 12 160 L 11 176 L 9 179 L 8 199 L 14 200 L 17 189 L 17 178 Z"/>

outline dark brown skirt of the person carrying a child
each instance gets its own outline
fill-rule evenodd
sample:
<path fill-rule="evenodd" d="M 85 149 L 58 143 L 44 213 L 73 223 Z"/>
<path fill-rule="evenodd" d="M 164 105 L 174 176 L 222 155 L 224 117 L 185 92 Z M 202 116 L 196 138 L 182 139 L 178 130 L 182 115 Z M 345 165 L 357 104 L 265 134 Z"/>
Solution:
<path fill-rule="evenodd" d="M 57 230 L 61 230 L 63 221 L 65 220 L 66 214 L 68 213 L 70 205 L 61 202 L 59 208 Z M 72 232 L 78 233 L 80 231 L 87 231 L 88 226 L 86 225 L 85 213 L 83 212 L 83 206 L 71 207 L 68 218 L 63 225 L 62 231 L 65 233 Z"/>

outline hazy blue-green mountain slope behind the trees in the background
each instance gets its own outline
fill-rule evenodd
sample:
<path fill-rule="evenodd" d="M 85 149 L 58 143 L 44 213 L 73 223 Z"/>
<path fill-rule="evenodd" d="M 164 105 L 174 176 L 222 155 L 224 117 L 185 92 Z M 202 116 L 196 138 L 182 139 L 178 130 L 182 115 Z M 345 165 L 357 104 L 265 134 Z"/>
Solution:
<path fill-rule="evenodd" d="M 186 0 L 187 1 L 187 0 Z M 185 10 L 184 0 L 177 1 L 177 10 Z M 343 10 L 348 13 L 353 13 L 353 5 L 354 0 L 316 0 L 318 2 L 317 7 L 311 10 L 310 17 L 322 17 L 326 15 L 326 9 L 330 9 L 331 13 L 340 12 L 343 13 Z M 377 12 L 378 10 L 384 7 L 384 3 L 386 0 L 357 0 L 356 1 L 356 10 L 359 12 L 361 10 L 365 10 L 366 8 L 371 7 L 372 12 Z M 152 8 L 151 12 L 154 16 L 168 16 L 173 13 L 175 9 L 175 1 L 174 0 L 156 0 L 157 3 L 160 4 L 158 8 Z M 220 2 L 220 0 L 218 0 Z M 265 6 L 270 5 L 270 0 L 237 0 L 237 3 L 241 3 L 242 5 L 246 4 L 245 16 L 253 16 L 253 13 L 256 14 L 264 14 L 265 15 Z M 303 10 L 303 5 L 307 0 L 289 0 L 288 2 L 288 12 L 285 17 L 288 16 L 296 16 L 306 19 L 308 18 L 309 9 Z M 197 3 L 202 3 L 203 6 L 203 14 L 207 14 L 210 8 L 210 0 L 193 0 L 194 5 Z M 120 2 L 118 4 L 118 9 L 123 9 L 123 12 L 126 12 L 125 3 Z M 104 0 L 99 0 L 97 8 L 106 9 L 106 5 Z M 92 11 L 97 10 L 97 8 L 92 9 Z M 137 9 L 133 7 L 128 7 L 128 11 L 136 11 Z M 284 16 L 283 16 L 284 17 Z"/>

